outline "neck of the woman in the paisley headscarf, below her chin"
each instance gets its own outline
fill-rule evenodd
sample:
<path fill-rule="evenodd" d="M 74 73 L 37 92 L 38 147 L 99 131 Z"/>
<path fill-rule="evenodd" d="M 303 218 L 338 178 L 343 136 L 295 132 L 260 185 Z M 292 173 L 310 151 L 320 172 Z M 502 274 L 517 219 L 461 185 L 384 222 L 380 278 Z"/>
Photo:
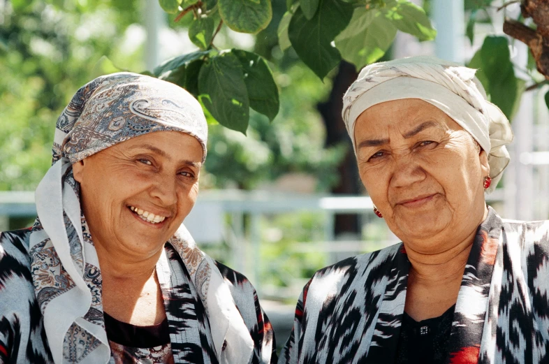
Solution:
<path fill-rule="evenodd" d="M 147 282 L 154 274 L 163 246 L 150 256 L 128 256 L 106 249 L 96 243 L 96 252 L 103 281 Z"/>

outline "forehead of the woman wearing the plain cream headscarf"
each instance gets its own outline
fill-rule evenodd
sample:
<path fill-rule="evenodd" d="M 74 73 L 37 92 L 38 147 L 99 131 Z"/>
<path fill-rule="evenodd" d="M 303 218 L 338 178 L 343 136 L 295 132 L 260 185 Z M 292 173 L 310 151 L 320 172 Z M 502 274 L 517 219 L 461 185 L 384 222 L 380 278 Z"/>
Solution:
<path fill-rule="evenodd" d="M 378 103 L 365 110 L 356 119 L 355 136 L 386 134 L 391 129 L 405 133 L 425 122 L 437 124 L 442 130 L 463 130 L 444 111 L 427 101 L 402 99 Z"/>

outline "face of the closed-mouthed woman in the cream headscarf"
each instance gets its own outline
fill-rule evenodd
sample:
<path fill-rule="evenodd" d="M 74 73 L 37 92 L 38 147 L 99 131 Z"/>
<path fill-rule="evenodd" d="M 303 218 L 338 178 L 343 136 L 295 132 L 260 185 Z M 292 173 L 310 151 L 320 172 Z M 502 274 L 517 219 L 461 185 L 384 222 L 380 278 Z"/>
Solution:
<path fill-rule="evenodd" d="M 439 108 L 420 99 L 374 105 L 358 117 L 355 141 L 369 196 L 417 252 L 444 252 L 481 223 L 486 153 Z"/>

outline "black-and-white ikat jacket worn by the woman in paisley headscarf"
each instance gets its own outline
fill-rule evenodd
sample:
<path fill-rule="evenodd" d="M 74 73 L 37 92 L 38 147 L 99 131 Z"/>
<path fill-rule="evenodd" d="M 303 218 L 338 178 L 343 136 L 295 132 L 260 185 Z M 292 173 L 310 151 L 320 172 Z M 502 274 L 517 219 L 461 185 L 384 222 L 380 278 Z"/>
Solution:
<path fill-rule="evenodd" d="M 0 233 L 0 364 L 53 363 L 31 279 L 30 233 L 31 229 Z M 212 342 L 216 328 L 210 328 L 205 306 L 200 304 L 200 295 L 191 284 L 180 254 L 170 243 L 166 243 L 165 250 L 168 263 L 161 267 L 162 272 L 157 265 L 157 274 L 170 326 L 168 349 L 175 363 L 217 364 L 219 355 Z M 221 263 L 216 265 L 254 342 L 249 363 L 276 363 L 274 333 L 254 287 L 240 273 Z M 101 283 L 101 276 L 96 279 Z M 64 362 L 85 363 L 86 353 L 94 349 L 97 340 L 89 333 L 75 333 L 73 338 L 73 347 L 78 350 Z M 156 363 L 154 356 L 145 362 Z M 109 363 L 115 363 L 112 357 Z"/>

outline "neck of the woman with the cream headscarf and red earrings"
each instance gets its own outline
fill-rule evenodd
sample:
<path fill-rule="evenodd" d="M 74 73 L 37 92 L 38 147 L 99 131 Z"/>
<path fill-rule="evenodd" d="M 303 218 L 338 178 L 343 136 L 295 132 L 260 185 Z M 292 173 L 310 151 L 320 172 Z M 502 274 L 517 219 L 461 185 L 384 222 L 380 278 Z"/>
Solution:
<path fill-rule="evenodd" d="M 486 219 L 488 209 L 485 208 L 482 221 Z M 411 263 L 410 279 L 413 284 L 423 286 L 445 286 L 453 282 L 461 282 L 463 271 L 473 247 L 477 228 L 474 228 L 465 238 L 454 244 L 445 252 L 425 254 L 407 247 L 406 252 Z"/>

